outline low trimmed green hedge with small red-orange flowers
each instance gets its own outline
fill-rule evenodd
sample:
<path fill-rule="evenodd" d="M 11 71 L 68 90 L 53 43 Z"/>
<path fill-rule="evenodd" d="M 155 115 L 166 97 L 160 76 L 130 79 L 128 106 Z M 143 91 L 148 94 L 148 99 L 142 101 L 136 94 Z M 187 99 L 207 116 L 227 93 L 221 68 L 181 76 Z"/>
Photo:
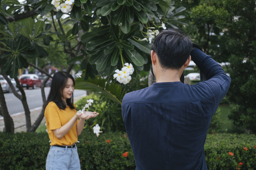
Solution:
<path fill-rule="evenodd" d="M 96 137 L 91 131 L 83 131 L 79 141 L 77 147 L 82 170 L 135 169 L 126 134 L 103 132 Z M 47 133 L 1 132 L 0 148 L 0 170 L 44 170 L 49 138 Z M 208 135 L 205 155 L 209 170 L 256 170 L 256 136 Z"/>

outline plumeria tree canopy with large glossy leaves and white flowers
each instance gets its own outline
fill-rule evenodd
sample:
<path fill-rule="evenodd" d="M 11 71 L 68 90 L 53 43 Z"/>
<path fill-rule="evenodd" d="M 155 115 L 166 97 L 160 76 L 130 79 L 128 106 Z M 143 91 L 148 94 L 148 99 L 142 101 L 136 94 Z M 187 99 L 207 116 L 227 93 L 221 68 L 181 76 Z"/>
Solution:
<path fill-rule="evenodd" d="M 178 20 L 185 8 L 175 8 L 170 0 L 0 2 L 1 73 L 11 77 L 18 76 L 18 69 L 33 66 L 28 58 L 48 56 L 50 45 L 68 54 L 67 71 L 80 64 L 84 80 L 120 73 L 116 79 L 127 84 L 141 70 L 149 70 L 155 35 L 184 24 Z"/>

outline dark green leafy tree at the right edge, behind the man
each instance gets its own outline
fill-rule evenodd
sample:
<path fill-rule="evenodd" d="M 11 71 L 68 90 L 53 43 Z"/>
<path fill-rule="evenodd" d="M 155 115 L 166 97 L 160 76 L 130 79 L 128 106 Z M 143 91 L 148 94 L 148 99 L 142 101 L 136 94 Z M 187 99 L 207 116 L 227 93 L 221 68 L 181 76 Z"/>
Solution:
<path fill-rule="evenodd" d="M 189 1 L 189 0 L 188 0 Z M 187 1 L 184 1 L 187 2 Z M 186 3 L 181 2 L 186 7 Z M 229 62 L 230 119 L 256 132 L 255 0 L 201 0 L 191 8 L 184 30 L 218 62 Z"/>

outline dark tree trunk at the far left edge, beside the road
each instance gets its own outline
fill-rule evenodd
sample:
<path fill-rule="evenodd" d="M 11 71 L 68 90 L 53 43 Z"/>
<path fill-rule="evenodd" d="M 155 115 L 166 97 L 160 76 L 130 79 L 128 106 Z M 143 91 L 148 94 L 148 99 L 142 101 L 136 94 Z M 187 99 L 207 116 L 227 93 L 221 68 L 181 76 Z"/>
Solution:
<path fill-rule="evenodd" d="M 2 86 L 0 85 L 0 115 L 4 118 L 4 132 L 9 132 L 9 133 L 14 133 L 14 124 L 13 124 L 13 120 L 9 115 L 7 106 L 6 106 L 6 102 L 5 102 L 5 98 L 4 98 L 4 93 L 3 93 L 3 89 Z"/>

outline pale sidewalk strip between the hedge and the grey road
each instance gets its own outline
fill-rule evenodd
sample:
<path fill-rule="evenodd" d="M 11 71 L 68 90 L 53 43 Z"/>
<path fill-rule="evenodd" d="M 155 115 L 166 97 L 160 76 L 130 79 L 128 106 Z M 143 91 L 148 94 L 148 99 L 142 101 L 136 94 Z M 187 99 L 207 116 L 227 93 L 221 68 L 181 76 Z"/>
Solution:
<path fill-rule="evenodd" d="M 85 95 L 75 97 L 74 102 L 76 102 L 77 100 L 81 99 L 84 96 Z M 38 107 L 38 108 L 30 110 L 31 125 L 33 125 L 34 122 L 37 120 L 41 110 L 42 110 L 42 107 Z M 27 131 L 26 118 L 25 118 L 25 112 L 24 111 L 20 112 L 20 113 L 12 114 L 11 118 L 13 119 L 13 123 L 14 123 L 14 132 L 26 132 Z M 45 122 L 46 122 L 46 120 L 44 118 L 41 121 L 41 124 L 45 123 Z M 1 118 L 0 119 L 0 132 L 3 131 L 3 128 L 4 128 L 4 120 Z"/>

